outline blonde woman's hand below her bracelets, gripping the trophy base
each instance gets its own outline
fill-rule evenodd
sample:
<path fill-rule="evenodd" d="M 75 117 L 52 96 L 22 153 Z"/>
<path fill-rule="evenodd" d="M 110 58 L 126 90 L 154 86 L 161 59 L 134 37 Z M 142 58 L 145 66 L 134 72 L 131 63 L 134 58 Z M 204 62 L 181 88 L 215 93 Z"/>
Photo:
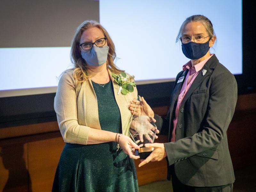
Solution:
<path fill-rule="evenodd" d="M 120 147 L 123 149 L 124 153 L 128 154 L 130 158 L 132 159 L 140 158 L 140 156 L 135 156 L 132 152 L 132 148 L 139 149 L 140 147 L 136 143 L 134 143 L 130 137 L 121 134 L 121 136 L 119 137 L 118 143 Z"/>

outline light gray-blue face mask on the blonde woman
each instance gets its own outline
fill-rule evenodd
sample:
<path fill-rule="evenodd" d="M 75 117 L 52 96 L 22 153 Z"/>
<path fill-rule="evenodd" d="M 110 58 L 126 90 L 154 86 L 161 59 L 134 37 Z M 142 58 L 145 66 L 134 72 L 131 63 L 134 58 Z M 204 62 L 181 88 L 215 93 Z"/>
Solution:
<path fill-rule="evenodd" d="M 101 66 L 107 61 L 108 58 L 108 46 L 97 47 L 93 46 L 88 51 L 81 52 L 82 58 L 92 66 Z"/>

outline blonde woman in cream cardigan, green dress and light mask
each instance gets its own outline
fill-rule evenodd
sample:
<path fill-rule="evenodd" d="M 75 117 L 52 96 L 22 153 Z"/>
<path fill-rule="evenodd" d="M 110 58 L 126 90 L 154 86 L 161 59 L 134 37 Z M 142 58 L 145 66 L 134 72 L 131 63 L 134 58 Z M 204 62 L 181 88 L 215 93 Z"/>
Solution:
<path fill-rule="evenodd" d="M 100 23 L 84 21 L 71 46 L 73 69 L 63 72 L 54 99 L 60 132 L 66 142 L 52 191 L 138 191 L 129 137 L 137 98 L 133 77 L 118 69 L 115 46 Z M 120 90 L 115 78 L 133 85 Z M 131 82 L 129 82 L 129 80 Z M 131 87 L 131 86 L 130 86 Z"/>

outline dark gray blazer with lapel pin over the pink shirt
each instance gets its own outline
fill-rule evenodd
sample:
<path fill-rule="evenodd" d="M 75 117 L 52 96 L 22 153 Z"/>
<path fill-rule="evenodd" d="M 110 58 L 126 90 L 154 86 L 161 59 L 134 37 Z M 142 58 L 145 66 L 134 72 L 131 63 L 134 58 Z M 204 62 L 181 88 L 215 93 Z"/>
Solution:
<path fill-rule="evenodd" d="M 204 76 L 203 69 L 207 71 Z M 185 78 L 181 83 L 177 81 L 187 73 L 188 69 L 176 77 L 167 117 L 154 117 L 161 133 L 168 134 L 168 143 L 164 143 L 168 165 L 174 164 L 177 178 L 185 185 L 231 184 L 235 176 L 227 129 L 237 100 L 235 77 L 213 55 L 199 71 L 180 104 L 176 141 L 170 142 L 177 98 Z"/>

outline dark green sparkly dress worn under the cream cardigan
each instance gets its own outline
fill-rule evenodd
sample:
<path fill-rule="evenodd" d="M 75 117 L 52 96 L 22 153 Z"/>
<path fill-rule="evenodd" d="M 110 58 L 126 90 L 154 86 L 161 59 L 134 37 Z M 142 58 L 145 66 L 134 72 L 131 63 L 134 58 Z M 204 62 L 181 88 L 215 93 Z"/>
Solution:
<path fill-rule="evenodd" d="M 122 132 L 121 116 L 113 85 L 92 82 L 98 101 L 102 130 Z M 52 191 L 62 192 L 137 192 L 138 180 L 134 160 L 116 143 L 93 145 L 66 143 L 60 156 Z"/>

